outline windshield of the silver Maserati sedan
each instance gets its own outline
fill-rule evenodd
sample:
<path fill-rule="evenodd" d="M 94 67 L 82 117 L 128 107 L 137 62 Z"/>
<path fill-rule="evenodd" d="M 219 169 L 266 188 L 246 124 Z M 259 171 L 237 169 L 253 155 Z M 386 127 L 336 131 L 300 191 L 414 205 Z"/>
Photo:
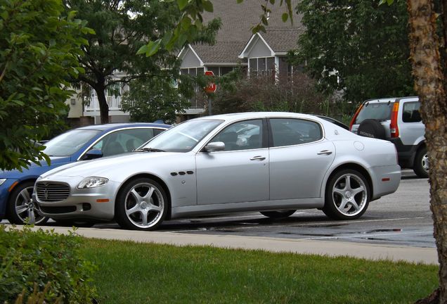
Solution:
<path fill-rule="evenodd" d="M 188 152 L 222 122 L 224 120 L 188 120 L 171 129 L 167 129 L 141 148 L 169 152 Z"/>

